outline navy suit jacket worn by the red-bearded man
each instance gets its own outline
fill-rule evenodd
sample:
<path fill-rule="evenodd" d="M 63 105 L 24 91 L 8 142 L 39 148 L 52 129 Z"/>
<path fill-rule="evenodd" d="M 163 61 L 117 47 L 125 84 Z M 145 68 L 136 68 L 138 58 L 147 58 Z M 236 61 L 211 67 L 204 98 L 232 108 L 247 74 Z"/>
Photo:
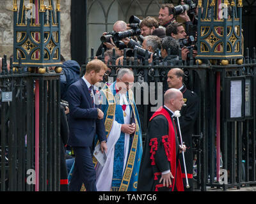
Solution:
<path fill-rule="evenodd" d="M 71 147 L 93 147 L 93 138 L 107 141 L 104 119 L 98 119 L 97 108 L 93 108 L 88 87 L 83 78 L 70 85 L 67 92 L 70 110 L 68 145 Z"/>

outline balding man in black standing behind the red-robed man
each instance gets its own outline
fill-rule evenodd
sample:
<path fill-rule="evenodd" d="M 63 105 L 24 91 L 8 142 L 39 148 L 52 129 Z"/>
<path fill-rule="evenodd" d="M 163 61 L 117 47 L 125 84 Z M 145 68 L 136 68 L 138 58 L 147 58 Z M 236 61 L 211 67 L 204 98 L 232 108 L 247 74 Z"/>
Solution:
<path fill-rule="evenodd" d="M 180 131 L 182 140 L 185 143 L 187 150 L 184 154 L 186 162 L 186 170 L 188 174 L 189 189 L 185 191 L 193 191 L 193 150 L 192 150 L 192 134 L 194 131 L 194 124 L 199 112 L 199 99 L 195 92 L 187 89 L 184 81 L 184 71 L 180 68 L 173 68 L 167 74 L 167 83 L 169 88 L 179 89 L 183 94 L 183 100 L 186 106 L 180 110 Z M 177 122 L 177 121 L 176 121 Z M 180 165 L 182 170 L 183 183 L 186 185 L 186 176 L 184 175 L 183 159 L 180 157 Z"/>

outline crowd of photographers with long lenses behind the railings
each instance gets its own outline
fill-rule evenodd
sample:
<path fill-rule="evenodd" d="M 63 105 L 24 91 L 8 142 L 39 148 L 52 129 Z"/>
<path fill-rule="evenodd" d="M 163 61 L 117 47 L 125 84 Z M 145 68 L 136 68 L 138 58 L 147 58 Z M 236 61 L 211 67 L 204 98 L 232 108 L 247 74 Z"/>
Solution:
<path fill-rule="evenodd" d="M 141 63 L 148 59 L 150 63 L 158 61 L 165 65 L 168 59 L 172 65 L 177 65 L 179 55 L 183 62 L 188 62 L 191 54 L 195 59 L 197 12 L 196 2 L 184 0 L 178 6 L 161 5 L 158 22 L 154 17 L 141 20 L 134 15 L 127 23 L 118 20 L 113 25 L 113 31 L 100 37 L 96 56 L 100 58 L 104 55 L 106 64 L 112 64 L 115 49 L 116 65 L 122 65 L 124 50 L 127 61 L 134 61 L 136 55 Z"/>

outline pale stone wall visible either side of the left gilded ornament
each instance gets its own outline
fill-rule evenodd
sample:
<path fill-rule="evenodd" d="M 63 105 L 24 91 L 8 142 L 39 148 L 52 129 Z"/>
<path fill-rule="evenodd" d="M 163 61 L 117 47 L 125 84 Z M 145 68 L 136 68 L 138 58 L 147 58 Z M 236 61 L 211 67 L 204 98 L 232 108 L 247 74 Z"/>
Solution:
<path fill-rule="evenodd" d="M 61 0 L 61 55 L 70 59 L 70 0 Z M 9 58 L 13 53 L 13 1 L 1 0 L 0 7 L 0 57 Z M 19 9 L 19 0 L 18 0 Z"/>

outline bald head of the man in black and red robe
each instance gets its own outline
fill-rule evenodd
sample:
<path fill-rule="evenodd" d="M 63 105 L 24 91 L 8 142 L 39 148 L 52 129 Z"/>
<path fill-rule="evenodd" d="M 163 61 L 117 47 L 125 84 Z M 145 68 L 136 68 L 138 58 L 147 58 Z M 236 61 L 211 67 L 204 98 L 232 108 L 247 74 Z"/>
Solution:
<path fill-rule="evenodd" d="M 168 89 L 164 94 L 164 105 L 173 112 L 180 110 L 184 104 L 182 92 L 179 89 Z"/>

